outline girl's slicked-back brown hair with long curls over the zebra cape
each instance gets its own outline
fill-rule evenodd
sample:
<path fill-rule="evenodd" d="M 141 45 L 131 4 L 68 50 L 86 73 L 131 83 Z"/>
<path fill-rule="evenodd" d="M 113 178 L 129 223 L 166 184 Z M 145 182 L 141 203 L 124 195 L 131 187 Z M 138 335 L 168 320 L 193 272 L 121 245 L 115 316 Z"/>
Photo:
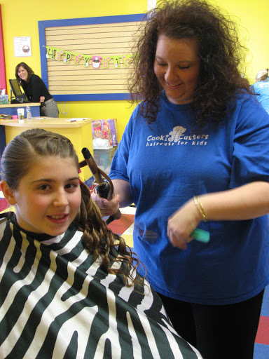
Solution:
<path fill-rule="evenodd" d="M 78 156 L 71 141 L 60 134 L 40 128 L 27 130 L 16 136 L 1 156 L 1 179 L 11 189 L 18 189 L 20 179 L 27 175 L 33 163 L 41 161 L 42 156 L 60 156 L 73 158 L 79 171 Z M 36 161 L 35 161 L 36 160 Z M 83 232 L 82 241 L 85 248 L 96 259 L 102 259 L 102 268 L 113 274 L 119 273 L 125 285 L 140 283 L 135 279 L 132 266 L 137 269 L 140 262 L 132 253 L 123 238 L 113 233 L 105 224 L 99 208 L 92 201 L 90 190 L 81 182 L 81 207 L 74 219 L 74 224 Z M 116 251 L 117 248 L 117 251 Z M 118 269 L 111 269 L 113 262 L 119 262 Z"/>

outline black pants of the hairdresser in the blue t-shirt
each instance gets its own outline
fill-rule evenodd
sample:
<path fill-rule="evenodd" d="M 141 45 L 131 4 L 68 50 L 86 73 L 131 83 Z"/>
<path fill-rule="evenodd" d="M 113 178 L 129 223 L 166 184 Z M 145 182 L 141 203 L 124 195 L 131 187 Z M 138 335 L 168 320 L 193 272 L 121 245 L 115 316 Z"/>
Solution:
<path fill-rule="evenodd" d="M 181 302 L 158 294 L 174 329 L 198 348 L 203 359 L 252 359 L 263 292 L 225 306 Z"/>

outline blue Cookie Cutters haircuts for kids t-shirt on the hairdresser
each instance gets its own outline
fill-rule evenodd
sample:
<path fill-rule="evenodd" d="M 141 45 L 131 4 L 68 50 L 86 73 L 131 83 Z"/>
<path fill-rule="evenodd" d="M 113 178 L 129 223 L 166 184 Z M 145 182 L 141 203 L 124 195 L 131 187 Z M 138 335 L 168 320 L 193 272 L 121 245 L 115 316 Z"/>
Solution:
<path fill-rule="evenodd" d="M 187 250 L 167 238 L 167 219 L 195 195 L 269 179 L 269 116 L 250 95 L 219 125 L 191 130 L 191 105 L 164 93 L 156 121 L 139 108 L 127 123 L 111 164 L 111 179 L 130 182 L 137 205 L 134 250 L 152 287 L 167 297 L 200 304 L 230 304 L 254 297 L 269 283 L 268 215 L 244 221 L 200 222 L 209 243 Z"/>

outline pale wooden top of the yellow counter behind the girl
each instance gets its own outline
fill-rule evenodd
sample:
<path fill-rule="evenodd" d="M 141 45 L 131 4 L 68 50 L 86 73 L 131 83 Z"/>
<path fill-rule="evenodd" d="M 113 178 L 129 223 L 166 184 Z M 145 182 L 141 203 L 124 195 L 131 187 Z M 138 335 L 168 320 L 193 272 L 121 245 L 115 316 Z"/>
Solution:
<path fill-rule="evenodd" d="M 5 106 L 5 105 L 4 105 Z M 19 123 L 19 120 L 0 120 L 1 126 L 15 126 L 21 128 L 75 128 L 82 127 L 93 121 L 93 118 L 53 118 L 53 117 L 32 117 Z"/>

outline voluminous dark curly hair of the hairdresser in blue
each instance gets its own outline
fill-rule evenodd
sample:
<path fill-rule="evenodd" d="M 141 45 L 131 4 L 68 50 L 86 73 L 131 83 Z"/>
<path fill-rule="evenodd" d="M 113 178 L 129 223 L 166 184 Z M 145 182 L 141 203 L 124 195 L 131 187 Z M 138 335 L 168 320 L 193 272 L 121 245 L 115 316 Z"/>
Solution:
<path fill-rule="evenodd" d="M 199 0 L 163 1 L 145 20 L 132 49 L 134 71 L 129 90 L 132 103 L 142 100 L 141 114 L 148 123 L 156 120 L 163 90 L 153 69 L 160 34 L 198 41 L 200 74 L 192 102 L 194 123 L 204 126 L 208 121 L 222 121 L 236 93 L 251 93 L 240 67 L 247 49 L 240 45 L 235 22 L 218 8 Z"/>

